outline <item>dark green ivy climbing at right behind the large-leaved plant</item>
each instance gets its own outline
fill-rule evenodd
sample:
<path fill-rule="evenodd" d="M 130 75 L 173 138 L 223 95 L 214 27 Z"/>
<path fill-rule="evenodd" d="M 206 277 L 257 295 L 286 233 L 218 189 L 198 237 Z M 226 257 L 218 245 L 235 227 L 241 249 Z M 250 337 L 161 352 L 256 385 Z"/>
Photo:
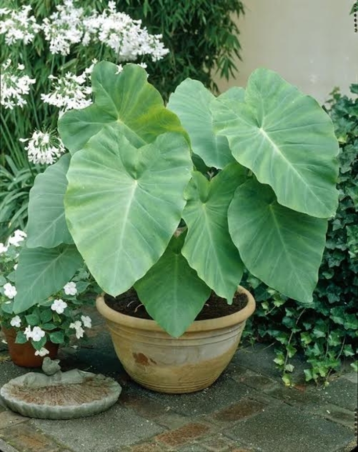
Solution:
<path fill-rule="evenodd" d="M 318 285 L 311 306 L 296 305 L 279 292 L 249 276 L 248 284 L 258 301 L 245 334 L 273 341 L 275 363 L 286 384 L 292 382 L 289 359 L 305 356 L 306 380 L 323 380 L 341 366 L 342 359 L 356 356 L 358 335 L 358 85 L 352 98 L 338 88 L 330 94 L 326 110 L 340 143 L 339 207 L 328 222 L 327 241 Z M 355 342 L 356 344 L 356 342 Z M 356 364 L 355 364 L 356 368 Z"/>

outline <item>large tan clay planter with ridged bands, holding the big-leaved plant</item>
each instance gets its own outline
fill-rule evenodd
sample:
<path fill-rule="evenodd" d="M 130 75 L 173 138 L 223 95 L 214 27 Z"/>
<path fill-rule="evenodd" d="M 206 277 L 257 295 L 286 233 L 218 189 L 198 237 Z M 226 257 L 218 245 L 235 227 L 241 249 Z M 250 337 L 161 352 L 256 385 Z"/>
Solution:
<path fill-rule="evenodd" d="M 165 393 L 188 393 L 210 386 L 228 366 L 246 320 L 255 310 L 250 292 L 239 287 L 248 304 L 234 314 L 195 321 L 179 338 L 169 336 L 154 320 L 121 314 L 96 300 L 106 319 L 124 369 L 145 388 Z"/>

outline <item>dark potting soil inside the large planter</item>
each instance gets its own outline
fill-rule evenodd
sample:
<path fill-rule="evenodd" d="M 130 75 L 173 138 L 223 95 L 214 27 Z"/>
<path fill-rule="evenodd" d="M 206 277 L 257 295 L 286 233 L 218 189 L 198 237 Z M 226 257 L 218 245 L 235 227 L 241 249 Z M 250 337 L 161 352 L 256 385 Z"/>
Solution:
<path fill-rule="evenodd" d="M 129 289 L 114 298 L 110 295 L 105 295 L 104 300 L 106 304 L 117 312 L 139 319 L 151 319 L 145 307 L 140 302 L 135 289 Z M 243 309 L 248 304 L 248 297 L 244 293 L 238 293 L 229 305 L 225 298 L 218 297 L 214 292 L 211 293 L 209 299 L 205 302 L 203 309 L 198 313 L 195 320 L 217 319 L 225 315 L 233 314 L 234 312 Z"/>

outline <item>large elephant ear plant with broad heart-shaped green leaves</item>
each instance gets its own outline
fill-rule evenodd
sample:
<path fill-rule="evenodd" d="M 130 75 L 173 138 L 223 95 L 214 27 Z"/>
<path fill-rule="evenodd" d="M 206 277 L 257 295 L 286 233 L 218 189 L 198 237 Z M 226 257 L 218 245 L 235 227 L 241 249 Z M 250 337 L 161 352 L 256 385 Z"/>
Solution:
<path fill-rule="evenodd" d="M 165 107 L 141 67 L 116 71 L 98 63 L 94 103 L 59 120 L 70 153 L 31 190 L 15 312 L 82 260 L 110 295 L 134 287 L 172 336 L 211 291 L 230 304 L 244 267 L 310 303 L 338 205 L 339 148 L 319 104 L 258 69 L 217 98 L 187 79 Z"/>

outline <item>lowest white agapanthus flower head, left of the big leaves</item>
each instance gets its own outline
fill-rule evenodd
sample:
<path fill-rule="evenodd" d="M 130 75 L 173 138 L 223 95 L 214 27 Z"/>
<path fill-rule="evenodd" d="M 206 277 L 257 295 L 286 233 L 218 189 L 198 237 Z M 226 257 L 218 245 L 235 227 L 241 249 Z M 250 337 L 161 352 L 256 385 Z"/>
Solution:
<path fill-rule="evenodd" d="M 65 151 L 63 143 L 52 131 L 35 130 L 31 138 L 20 138 L 25 143 L 29 162 L 52 165 Z"/>

